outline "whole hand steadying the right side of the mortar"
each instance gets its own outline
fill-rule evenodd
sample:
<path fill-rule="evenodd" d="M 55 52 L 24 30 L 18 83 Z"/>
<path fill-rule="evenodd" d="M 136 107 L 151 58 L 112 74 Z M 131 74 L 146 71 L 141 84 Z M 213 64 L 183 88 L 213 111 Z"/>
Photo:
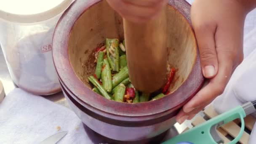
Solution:
<path fill-rule="evenodd" d="M 243 61 L 243 26 L 248 9 L 240 0 L 195 0 L 192 4 L 202 72 L 209 83 L 180 110 L 178 123 L 192 119 L 223 93 L 232 72 Z"/>

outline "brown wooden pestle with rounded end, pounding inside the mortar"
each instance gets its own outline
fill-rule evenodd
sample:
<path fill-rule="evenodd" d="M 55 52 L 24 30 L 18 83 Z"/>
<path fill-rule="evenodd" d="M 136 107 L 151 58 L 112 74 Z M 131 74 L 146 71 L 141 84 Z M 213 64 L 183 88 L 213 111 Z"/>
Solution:
<path fill-rule="evenodd" d="M 166 76 L 166 6 L 146 23 L 123 19 L 129 77 L 133 86 L 152 93 L 163 87 Z"/>

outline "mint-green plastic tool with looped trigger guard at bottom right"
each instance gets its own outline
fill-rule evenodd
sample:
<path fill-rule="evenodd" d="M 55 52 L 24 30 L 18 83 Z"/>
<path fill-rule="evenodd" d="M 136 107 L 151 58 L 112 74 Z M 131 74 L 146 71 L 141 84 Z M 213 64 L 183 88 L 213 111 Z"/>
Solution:
<path fill-rule="evenodd" d="M 220 144 L 224 143 L 223 139 L 217 133 L 217 128 L 221 125 L 229 123 L 237 118 L 241 120 L 241 129 L 237 137 L 230 141 L 229 144 L 236 144 L 245 128 L 244 117 L 255 112 L 256 101 L 247 102 L 242 106 L 235 107 L 227 112 L 222 113 L 210 120 L 207 120 L 201 125 L 197 125 L 194 128 L 189 129 L 188 131 L 179 134 L 176 137 L 173 137 L 162 144 L 179 144 L 181 142 L 189 142 L 192 144 Z"/>

